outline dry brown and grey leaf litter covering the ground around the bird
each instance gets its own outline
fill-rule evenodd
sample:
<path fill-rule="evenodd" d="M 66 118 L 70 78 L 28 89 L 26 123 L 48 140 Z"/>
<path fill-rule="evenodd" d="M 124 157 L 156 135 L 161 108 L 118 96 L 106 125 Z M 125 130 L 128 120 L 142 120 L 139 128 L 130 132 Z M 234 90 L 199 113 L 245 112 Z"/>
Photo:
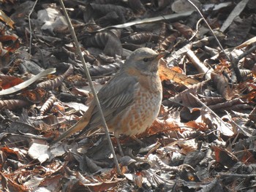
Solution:
<path fill-rule="evenodd" d="M 214 35 L 189 1 L 64 1 L 97 90 L 133 50 L 170 52 L 120 176 L 104 134 L 48 145 L 91 101 L 59 3 L 1 1 L 0 191 L 254 191 L 256 3 L 193 2 Z"/>

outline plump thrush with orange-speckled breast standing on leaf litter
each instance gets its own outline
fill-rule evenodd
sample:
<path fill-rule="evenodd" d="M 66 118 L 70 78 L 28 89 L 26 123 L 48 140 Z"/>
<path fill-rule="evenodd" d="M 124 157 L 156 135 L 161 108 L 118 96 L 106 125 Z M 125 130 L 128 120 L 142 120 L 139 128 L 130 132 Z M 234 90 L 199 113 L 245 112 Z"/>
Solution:
<path fill-rule="evenodd" d="M 148 47 L 138 48 L 97 93 L 109 131 L 116 139 L 121 134 L 133 137 L 143 133 L 157 118 L 162 103 L 159 60 L 165 55 Z M 79 137 L 98 128 L 102 128 L 102 121 L 93 99 L 83 117 L 50 144 L 77 131 Z"/>

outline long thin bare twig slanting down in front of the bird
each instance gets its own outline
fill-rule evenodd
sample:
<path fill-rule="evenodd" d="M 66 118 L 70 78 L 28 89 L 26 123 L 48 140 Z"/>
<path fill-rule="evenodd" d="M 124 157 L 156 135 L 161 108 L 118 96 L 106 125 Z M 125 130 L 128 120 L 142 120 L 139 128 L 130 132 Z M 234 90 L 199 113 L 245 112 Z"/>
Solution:
<path fill-rule="evenodd" d="M 65 16 L 65 18 L 66 18 L 66 20 L 67 20 L 67 24 L 68 24 L 68 26 L 69 26 L 69 30 L 70 30 L 71 35 L 72 35 L 72 39 L 73 39 L 74 42 L 75 42 L 75 47 L 77 48 L 78 55 L 79 55 L 79 57 L 80 57 L 80 61 L 82 61 L 83 69 L 84 69 L 84 71 L 86 72 L 86 77 L 87 77 L 87 79 L 88 79 L 88 81 L 89 81 L 89 85 L 90 85 L 90 87 L 91 87 L 91 91 L 92 91 L 92 93 L 94 94 L 94 99 L 95 99 L 95 101 L 96 101 L 96 105 L 97 105 L 98 110 L 99 110 L 99 116 L 100 116 L 100 118 L 101 118 L 101 120 L 102 120 L 102 126 L 103 126 L 104 129 L 105 129 L 105 134 L 106 134 L 107 139 L 108 139 L 108 144 L 109 144 L 109 146 L 110 146 L 111 152 L 113 153 L 113 160 L 114 160 L 114 163 L 116 164 L 117 172 L 118 172 L 118 174 L 121 174 L 121 169 L 120 169 L 120 167 L 119 167 L 119 165 L 118 165 L 118 161 L 117 161 L 117 158 L 116 158 L 116 153 L 115 153 L 115 151 L 114 151 L 114 148 L 113 148 L 113 145 L 112 145 L 110 136 L 109 136 L 108 126 L 107 126 L 107 123 L 106 123 L 106 121 L 105 121 L 105 118 L 104 118 L 104 115 L 103 115 L 103 112 L 102 112 L 102 108 L 100 107 L 99 99 L 98 99 L 98 97 L 97 97 L 97 93 L 96 93 L 96 91 L 95 91 L 94 85 L 93 85 L 93 83 L 92 83 L 92 81 L 91 81 L 91 75 L 90 75 L 90 73 L 89 73 L 89 69 L 88 69 L 87 66 L 86 66 L 86 61 L 84 60 L 83 54 L 82 54 L 82 52 L 81 52 L 81 50 L 80 50 L 80 45 L 79 45 L 79 42 L 78 42 L 78 38 L 77 38 L 76 35 L 75 35 L 74 28 L 73 28 L 72 23 L 71 23 L 71 21 L 70 21 L 70 19 L 69 19 L 69 15 L 67 14 L 67 10 L 66 10 L 66 8 L 65 8 L 65 6 L 64 6 L 63 1 L 62 1 L 62 0 L 59 0 L 59 3 L 61 4 L 61 8 L 63 9 L 64 16 Z"/>

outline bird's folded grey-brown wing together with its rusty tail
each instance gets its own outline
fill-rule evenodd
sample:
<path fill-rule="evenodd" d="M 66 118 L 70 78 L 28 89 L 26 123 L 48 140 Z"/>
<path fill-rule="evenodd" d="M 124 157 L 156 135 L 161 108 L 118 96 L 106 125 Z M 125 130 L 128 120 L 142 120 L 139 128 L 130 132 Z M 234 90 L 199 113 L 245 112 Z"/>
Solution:
<path fill-rule="evenodd" d="M 119 72 L 99 90 L 97 96 L 106 121 L 113 118 L 119 112 L 122 112 L 132 103 L 138 87 L 138 80 L 135 77 Z M 69 137 L 77 131 L 80 131 L 77 136 L 79 137 L 81 134 L 101 126 L 101 124 L 99 110 L 95 101 L 92 101 L 89 110 L 86 111 L 83 117 L 74 126 L 61 134 L 59 138 L 51 142 L 51 145 Z"/>

